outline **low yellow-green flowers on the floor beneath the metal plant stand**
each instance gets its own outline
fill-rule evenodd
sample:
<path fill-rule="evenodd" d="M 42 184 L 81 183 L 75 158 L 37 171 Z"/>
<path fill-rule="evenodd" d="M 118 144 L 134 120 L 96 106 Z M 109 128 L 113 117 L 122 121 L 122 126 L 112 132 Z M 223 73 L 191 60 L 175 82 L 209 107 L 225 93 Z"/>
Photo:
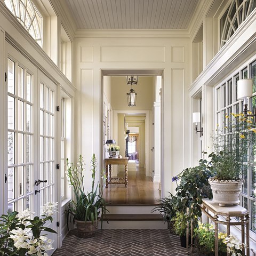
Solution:
<path fill-rule="evenodd" d="M 194 234 L 197 241 L 197 248 L 201 254 L 214 256 L 215 252 L 215 232 L 212 224 L 198 222 L 198 227 L 194 229 Z M 225 233 L 218 233 L 218 249 L 219 255 L 226 255 L 226 237 Z"/>

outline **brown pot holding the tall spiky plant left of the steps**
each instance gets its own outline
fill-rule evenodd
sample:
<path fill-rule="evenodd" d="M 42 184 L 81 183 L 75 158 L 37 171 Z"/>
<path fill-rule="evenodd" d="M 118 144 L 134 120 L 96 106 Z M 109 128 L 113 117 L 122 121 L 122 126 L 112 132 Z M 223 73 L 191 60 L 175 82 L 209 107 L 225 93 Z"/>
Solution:
<path fill-rule="evenodd" d="M 99 219 L 97 221 L 93 221 L 92 223 L 91 221 L 84 222 L 84 221 L 75 220 L 78 237 L 90 238 L 95 236 L 98 230 L 98 221 Z"/>

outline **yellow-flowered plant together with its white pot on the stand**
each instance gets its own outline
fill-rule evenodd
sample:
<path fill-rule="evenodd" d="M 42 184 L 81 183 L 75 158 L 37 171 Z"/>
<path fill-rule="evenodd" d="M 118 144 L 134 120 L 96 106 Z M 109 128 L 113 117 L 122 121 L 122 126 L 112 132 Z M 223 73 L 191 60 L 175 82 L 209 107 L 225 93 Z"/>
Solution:
<path fill-rule="evenodd" d="M 213 191 L 213 202 L 220 206 L 239 204 L 244 180 L 241 177 L 243 166 L 249 162 L 248 149 L 255 132 L 252 121 L 244 114 L 225 117 L 220 129 L 213 138 L 214 153 L 211 153 L 211 170 L 214 177 L 209 179 Z"/>

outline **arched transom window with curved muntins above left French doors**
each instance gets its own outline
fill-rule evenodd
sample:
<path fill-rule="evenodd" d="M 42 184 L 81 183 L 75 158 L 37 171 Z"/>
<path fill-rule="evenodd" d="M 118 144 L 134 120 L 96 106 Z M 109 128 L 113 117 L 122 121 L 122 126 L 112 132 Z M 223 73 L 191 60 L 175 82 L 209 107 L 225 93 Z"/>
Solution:
<path fill-rule="evenodd" d="M 43 18 L 31 0 L 4 0 L 6 7 L 12 12 L 28 33 L 42 47 Z"/>

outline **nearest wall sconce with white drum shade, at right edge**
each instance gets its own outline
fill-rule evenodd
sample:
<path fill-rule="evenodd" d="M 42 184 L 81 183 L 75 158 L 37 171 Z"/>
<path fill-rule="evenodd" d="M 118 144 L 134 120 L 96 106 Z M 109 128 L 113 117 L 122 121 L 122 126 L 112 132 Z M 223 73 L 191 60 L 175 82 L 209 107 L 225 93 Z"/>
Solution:
<path fill-rule="evenodd" d="M 255 114 L 248 114 L 247 97 L 252 97 L 252 79 L 240 79 L 237 81 L 237 99 L 244 100 L 244 115 L 247 119 L 248 116 L 256 116 Z"/>

